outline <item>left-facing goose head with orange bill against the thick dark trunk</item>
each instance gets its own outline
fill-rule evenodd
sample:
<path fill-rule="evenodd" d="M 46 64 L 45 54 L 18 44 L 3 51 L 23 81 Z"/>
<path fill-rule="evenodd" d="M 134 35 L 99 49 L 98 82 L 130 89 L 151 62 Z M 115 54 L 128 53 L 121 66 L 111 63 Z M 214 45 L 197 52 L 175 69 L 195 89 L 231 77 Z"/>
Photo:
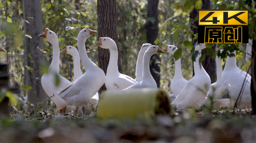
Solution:
<path fill-rule="evenodd" d="M 110 48 L 116 47 L 116 42 L 109 37 L 100 37 L 99 41 L 96 44 L 94 44 L 92 47 L 95 47 L 95 46 L 100 46 L 101 48 L 104 48 L 104 49 L 110 49 Z"/>

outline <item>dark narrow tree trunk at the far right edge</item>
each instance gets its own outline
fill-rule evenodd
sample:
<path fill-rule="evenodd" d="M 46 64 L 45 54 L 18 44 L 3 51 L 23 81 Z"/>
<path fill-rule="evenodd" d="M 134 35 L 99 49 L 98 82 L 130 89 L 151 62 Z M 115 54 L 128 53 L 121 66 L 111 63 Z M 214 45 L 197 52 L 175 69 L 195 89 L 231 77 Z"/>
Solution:
<path fill-rule="evenodd" d="M 256 40 L 253 39 L 253 45 L 252 45 L 252 81 L 251 81 L 251 95 L 252 95 L 252 112 L 253 114 L 256 114 Z"/>

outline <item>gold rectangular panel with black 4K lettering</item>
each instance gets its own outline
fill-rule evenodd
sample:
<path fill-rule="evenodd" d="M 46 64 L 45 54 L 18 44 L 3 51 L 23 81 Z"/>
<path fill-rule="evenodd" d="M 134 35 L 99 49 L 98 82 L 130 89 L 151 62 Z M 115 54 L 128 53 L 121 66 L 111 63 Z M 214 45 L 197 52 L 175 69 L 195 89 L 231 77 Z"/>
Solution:
<path fill-rule="evenodd" d="M 248 25 L 248 10 L 198 10 L 198 25 Z"/>

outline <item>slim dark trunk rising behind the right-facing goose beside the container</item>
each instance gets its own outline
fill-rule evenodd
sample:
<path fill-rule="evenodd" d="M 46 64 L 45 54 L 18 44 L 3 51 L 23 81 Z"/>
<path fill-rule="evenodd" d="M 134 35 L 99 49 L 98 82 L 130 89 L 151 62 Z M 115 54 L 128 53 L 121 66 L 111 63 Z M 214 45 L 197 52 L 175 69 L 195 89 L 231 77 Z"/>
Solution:
<path fill-rule="evenodd" d="M 155 22 L 148 22 L 146 25 L 147 31 L 147 42 L 155 45 L 154 42 L 158 36 L 158 2 L 159 0 L 148 0 L 147 1 L 147 19 L 155 19 Z M 149 65 L 150 73 L 154 78 L 157 87 L 160 87 L 160 59 L 159 54 L 155 54 L 150 57 L 152 60 Z"/>

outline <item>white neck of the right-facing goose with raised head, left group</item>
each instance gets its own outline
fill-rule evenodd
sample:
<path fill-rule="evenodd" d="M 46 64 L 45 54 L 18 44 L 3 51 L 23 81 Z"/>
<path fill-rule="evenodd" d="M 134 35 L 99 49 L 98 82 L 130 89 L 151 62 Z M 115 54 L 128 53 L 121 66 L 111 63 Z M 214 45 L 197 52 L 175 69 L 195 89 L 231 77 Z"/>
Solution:
<path fill-rule="evenodd" d="M 91 67 L 93 67 L 95 64 L 89 59 L 86 50 L 85 50 L 85 41 L 87 38 L 80 38 L 79 35 L 77 36 L 77 47 L 78 51 L 80 53 L 80 58 L 83 64 L 83 67 L 86 70 L 89 70 Z"/>

